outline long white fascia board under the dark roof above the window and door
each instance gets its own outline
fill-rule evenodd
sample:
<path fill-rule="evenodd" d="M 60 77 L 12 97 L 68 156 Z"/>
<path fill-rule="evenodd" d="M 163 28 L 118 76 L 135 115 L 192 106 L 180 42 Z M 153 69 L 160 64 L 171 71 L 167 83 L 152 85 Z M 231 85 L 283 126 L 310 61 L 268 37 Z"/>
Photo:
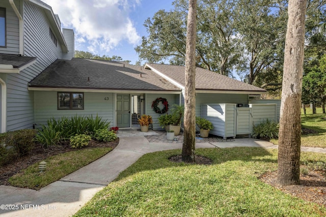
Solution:
<path fill-rule="evenodd" d="M 154 90 L 114 90 L 114 89 L 82 89 L 82 88 L 51 88 L 51 87 L 28 87 L 28 90 L 36 91 L 67 91 L 67 92 L 114 92 L 126 94 L 180 94 L 181 91 L 154 91 Z"/>

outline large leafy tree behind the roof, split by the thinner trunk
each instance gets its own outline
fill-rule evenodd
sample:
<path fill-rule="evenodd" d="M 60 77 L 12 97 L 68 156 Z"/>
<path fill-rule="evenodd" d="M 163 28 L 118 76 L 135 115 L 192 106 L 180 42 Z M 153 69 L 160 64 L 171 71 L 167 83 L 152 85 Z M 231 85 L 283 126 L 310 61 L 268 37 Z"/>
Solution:
<path fill-rule="evenodd" d="M 135 50 L 140 59 L 172 65 L 185 64 L 188 2 L 176 0 L 174 9 L 160 10 L 145 21 L 148 36 Z M 234 3 L 231 0 L 200 0 L 197 13 L 196 65 L 223 75 L 231 74 L 241 49 L 235 37 Z"/>

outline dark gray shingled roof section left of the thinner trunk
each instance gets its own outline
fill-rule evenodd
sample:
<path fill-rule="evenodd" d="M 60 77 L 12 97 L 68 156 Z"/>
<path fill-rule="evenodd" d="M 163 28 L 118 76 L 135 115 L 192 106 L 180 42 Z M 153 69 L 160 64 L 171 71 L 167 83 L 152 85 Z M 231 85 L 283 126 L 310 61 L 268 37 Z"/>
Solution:
<path fill-rule="evenodd" d="M 181 88 L 144 67 L 83 58 L 56 60 L 34 78 L 29 87 L 181 91 Z"/>

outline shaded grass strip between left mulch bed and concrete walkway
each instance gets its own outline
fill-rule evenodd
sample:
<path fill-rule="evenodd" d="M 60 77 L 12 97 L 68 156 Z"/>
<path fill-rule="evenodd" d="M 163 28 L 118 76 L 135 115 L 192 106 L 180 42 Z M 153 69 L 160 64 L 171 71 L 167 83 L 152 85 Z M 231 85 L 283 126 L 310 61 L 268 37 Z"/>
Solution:
<path fill-rule="evenodd" d="M 9 183 L 14 187 L 39 190 L 99 159 L 111 150 L 112 148 L 86 148 L 61 153 L 44 160 L 47 163 L 44 172 L 39 172 L 39 163 L 36 163 L 10 177 Z"/>

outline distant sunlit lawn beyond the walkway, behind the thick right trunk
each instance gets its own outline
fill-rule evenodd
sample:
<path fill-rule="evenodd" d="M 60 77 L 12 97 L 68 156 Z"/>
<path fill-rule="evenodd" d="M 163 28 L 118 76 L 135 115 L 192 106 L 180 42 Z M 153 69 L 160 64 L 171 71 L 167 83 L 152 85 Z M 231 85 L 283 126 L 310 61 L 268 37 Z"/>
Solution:
<path fill-rule="evenodd" d="M 317 132 L 316 134 L 301 135 L 302 146 L 326 148 L 326 114 L 321 113 L 321 108 L 317 108 L 317 114 L 312 114 L 311 109 L 307 108 L 307 114 L 301 115 L 301 124 L 303 128 Z M 279 144 L 277 139 L 271 139 L 270 142 Z"/>

